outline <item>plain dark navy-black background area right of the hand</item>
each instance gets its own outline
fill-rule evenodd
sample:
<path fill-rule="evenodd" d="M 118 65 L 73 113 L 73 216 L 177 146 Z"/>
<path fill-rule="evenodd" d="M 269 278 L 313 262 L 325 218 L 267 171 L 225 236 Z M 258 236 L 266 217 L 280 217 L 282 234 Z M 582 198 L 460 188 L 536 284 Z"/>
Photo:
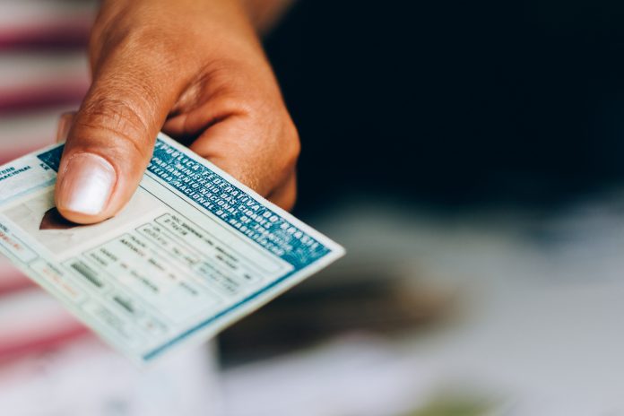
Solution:
<path fill-rule="evenodd" d="M 304 218 L 345 193 L 548 207 L 623 177 L 621 2 L 302 0 L 265 45 Z"/>

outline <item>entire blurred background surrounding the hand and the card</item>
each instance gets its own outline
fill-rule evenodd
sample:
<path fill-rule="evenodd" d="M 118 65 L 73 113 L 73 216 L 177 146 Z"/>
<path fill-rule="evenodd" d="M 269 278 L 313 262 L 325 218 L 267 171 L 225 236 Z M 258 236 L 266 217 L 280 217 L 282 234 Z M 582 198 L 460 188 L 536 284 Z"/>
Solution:
<path fill-rule="evenodd" d="M 624 414 L 624 4 L 280 3 L 295 214 L 348 256 L 143 372 L 4 262 L 0 413 Z M 79 105 L 96 9 L 0 2 L 3 162 Z"/>

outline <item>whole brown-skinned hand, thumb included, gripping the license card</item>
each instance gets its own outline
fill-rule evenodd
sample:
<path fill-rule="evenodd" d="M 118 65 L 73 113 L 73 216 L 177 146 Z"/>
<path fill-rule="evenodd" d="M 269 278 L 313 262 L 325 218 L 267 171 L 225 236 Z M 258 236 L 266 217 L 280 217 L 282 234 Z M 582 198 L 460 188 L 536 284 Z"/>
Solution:
<path fill-rule="evenodd" d="M 91 88 L 59 129 L 66 219 L 121 210 L 160 129 L 273 203 L 294 204 L 299 136 L 238 1 L 104 1 L 90 55 Z"/>

